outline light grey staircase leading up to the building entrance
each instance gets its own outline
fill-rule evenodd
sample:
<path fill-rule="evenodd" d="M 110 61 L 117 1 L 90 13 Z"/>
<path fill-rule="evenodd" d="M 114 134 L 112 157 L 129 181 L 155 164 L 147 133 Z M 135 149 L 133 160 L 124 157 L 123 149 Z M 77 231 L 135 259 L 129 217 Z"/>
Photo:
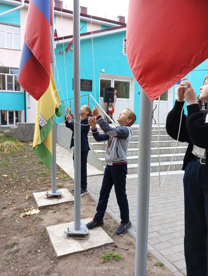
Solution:
<path fill-rule="evenodd" d="M 127 157 L 127 169 L 128 174 L 137 174 L 138 172 L 138 145 L 139 145 L 139 125 L 133 125 L 133 136 L 128 147 L 128 157 Z M 90 150 L 88 154 L 88 162 L 92 163 L 94 166 L 105 170 L 105 149 L 103 142 L 96 142 L 90 131 L 88 134 Z M 158 126 L 152 127 L 152 139 L 151 139 L 151 166 L 150 172 L 159 172 L 159 160 L 158 160 Z M 107 144 L 107 142 L 105 142 Z M 166 132 L 165 125 L 160 125 L 159 129 L 159 156 L 160 156 L 160 172 L 164 175 L 168 170 L 170 161 L 172 159 L 176 141 L 173 140 Z M 170 166 L 170 171 L 181 172 L 183 157 L 187 149 L 187 143 L 179 142 L 176 153 L 174 155 L 172 164 Z M 157 173 L 158 174 L 158 173 Z M 156 175 L 156 174 L 155 174 Z M 133 176 L 132 176 L 133 177 Z"/>

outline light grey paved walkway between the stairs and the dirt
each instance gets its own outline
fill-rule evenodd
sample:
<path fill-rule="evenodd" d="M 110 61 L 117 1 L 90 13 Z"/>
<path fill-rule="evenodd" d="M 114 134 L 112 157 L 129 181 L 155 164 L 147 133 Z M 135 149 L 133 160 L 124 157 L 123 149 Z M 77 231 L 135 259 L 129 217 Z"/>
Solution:
<path fill-rule="evenodd" d="M 58 154 L 60 150 L 61 154 Z M 69 175 L 73 174 L 72 154 L 68 150 L 60 148 L 60 146 L 57 147 L 57 164 Z M 66 166 L 70 171 L 66 169 Z M 99 173 L 103 172 L 88 164 L 88 190 L 90 196 L 96 202 L 99 199 L 103 180 L 103 175 L 99 175 Z M 127 177 L 126 185 L 130 220 L 132 222 L 132 227 L 128 232 L 136 237 L 137 178 L 133 176 L 135 174 Z M 161 181 L 163 177 L 161 177 Z M 159 187 L 159 177 L 150 177 L 148 251 L 160 262 L 163 262 L 174 276 L 186 275 L 183 248 L 183 201 L 183 173 L 181 171 L 168 174 L 161 188 Z M 107 212 L 119 224 L 120 212 L 114 187 L 109 197 Z"/>

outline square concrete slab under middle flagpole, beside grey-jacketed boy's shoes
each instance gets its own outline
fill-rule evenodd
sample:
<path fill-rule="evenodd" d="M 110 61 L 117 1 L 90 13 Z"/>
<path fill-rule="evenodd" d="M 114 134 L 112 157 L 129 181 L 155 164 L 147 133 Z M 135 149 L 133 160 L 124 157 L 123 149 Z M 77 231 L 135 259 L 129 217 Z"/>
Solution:
<path fill-rule="evenodd" d="M 91 220 L 92 218 L 81 219 L 81 223 L 85 225 Z M 46 227 L 51 244 L 58 258 L 114 242 L 105 233 L 102 227 L 96 227 L 92 230 L 89 230 L 89 239 L 87 240 L 64 238 L 64 230 L 73 224 L 74 221 Z"/>

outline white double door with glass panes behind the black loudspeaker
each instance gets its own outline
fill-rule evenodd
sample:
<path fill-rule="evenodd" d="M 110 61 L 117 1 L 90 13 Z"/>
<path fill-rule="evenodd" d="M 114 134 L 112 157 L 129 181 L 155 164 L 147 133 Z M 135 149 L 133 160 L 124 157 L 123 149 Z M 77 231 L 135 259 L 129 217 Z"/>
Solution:
<path fill-rule="evenodd" d="M 116 93 L 117 99 L 116 99 L 116 104 L 115 104 L 115 109 L 113 114 L 113 119 L 115 122 L 120 112 L 122 112 L 124 109 L 129 108 L 133 110 L 131 106 L 131 102 L 132 102 L 131 101 L 131 97 L 132 97 L 131 80 L 126 80 L 126 79 L 122 80 L 122 79 L 116 79 L 116 78 L 100 78 L 99 104 L 106 112 L 107 103 L 103 102 L 104 87 L 114 87 L 114 89 L 117 90 L 117 93 Z M 101 112 L 101 115 L 104 116 L 103 112 Z"/>

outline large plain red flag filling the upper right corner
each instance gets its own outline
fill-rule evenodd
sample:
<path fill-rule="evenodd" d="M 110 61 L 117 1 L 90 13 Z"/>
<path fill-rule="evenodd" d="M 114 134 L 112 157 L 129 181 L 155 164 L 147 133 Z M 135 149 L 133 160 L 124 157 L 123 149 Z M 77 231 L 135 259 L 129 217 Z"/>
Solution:
<path fill-rule="evenodd" d="M 129 0 L 127 58 L 154 100 L 208 58 L 207 0 Z"/>

